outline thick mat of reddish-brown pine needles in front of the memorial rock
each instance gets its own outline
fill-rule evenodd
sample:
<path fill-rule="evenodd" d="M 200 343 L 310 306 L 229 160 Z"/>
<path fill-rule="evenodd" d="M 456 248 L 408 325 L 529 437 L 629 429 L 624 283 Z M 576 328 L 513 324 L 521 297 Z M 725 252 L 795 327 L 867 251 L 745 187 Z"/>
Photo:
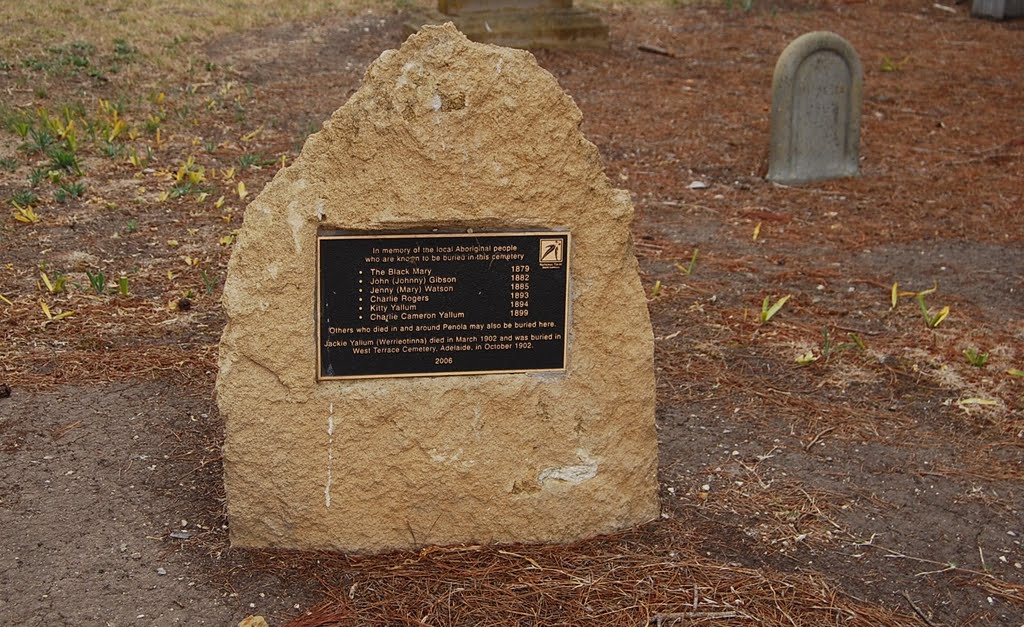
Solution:
<path fill-rule="evenodd" d="M 916 624 L 813 576 L 723 563 L 697 542 L 663 520 L 568 546 L 351 557 L 327 600 L 288 627 Z"/>

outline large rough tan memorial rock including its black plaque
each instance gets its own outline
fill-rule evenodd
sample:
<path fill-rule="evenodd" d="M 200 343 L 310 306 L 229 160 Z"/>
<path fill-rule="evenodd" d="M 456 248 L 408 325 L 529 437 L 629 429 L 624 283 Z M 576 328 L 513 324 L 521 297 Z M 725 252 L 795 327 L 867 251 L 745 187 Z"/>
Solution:
<path fill-rule="evenodd" d="M 217 401 L 231 542 L 561 542 L 655 517 L 633 208 L 555 79 L 428 27 L 247 208 Z"/>

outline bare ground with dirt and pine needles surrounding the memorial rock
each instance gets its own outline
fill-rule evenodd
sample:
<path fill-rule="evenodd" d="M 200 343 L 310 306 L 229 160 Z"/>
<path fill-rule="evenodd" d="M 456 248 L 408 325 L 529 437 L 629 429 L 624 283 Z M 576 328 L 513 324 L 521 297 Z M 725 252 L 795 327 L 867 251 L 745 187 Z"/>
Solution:
<path fill-rule="evenodd" d="M 731 4 L 606 7 L 610 49 L 536 52 L 633 194 L 658 372 L 663 518 L 566 547 L 226 544 L 232 231 L 402 14 L 195 44 L 163 77 L 130 42 L 4 60 L 0 622 L 1024 625 L 1022 24 Z M 862 175 L 773 185 L 772 68 L 819 29 L 864 64 Z"/>

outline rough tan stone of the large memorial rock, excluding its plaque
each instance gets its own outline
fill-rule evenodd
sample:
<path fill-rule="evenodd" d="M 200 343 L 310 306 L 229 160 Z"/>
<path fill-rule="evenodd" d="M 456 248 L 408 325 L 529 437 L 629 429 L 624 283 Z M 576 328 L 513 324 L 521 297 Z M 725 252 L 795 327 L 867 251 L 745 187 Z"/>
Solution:
<path fill-rule="evenodd" d="M 237 546 L 560 542 L 658 513 L 633 208 L 527 52 L 425 28 L 247 208 L 217 401 Z M 568 229 L 564 374 L 316 380 L 321 229 Z"/>

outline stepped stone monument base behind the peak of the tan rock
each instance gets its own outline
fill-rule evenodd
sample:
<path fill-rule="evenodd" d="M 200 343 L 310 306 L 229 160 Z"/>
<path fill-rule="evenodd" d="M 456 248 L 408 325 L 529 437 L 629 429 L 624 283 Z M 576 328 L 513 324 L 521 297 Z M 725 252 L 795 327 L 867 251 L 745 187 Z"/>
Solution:
<path fill-rule="evenodd" d="M 424 25 L 453 23 L 466 37 L 510 48 L 606 48 L 608 26 L 579 8 L 497 10 L 446 15 L 436 11 L 414 15 L 406 35 Z"/>

